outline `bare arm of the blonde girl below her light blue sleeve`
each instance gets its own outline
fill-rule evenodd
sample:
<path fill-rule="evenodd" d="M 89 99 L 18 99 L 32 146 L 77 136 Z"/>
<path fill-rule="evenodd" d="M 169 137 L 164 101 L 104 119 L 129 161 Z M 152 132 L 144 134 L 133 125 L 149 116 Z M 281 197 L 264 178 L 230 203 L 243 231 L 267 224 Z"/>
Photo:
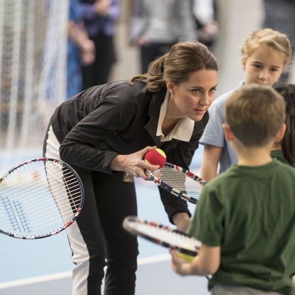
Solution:
<path fill-rule="evenodd" d="M 217 167 L 222 153 L 222 147 L 204 144 L 200 176 L 209 182 L 217 175 Z"/>

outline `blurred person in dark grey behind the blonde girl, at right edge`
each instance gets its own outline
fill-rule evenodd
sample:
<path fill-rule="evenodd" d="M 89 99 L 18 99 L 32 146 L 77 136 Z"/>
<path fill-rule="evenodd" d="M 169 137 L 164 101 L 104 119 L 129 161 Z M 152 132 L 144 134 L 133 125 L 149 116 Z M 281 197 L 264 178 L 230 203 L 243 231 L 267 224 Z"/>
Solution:
<path fill-rule="evenodd" d="M 295 50 L 295 0 L 264 0 L 264 20 L 263 27 L 284 33 L 288 36 L 291 48 L 292 59 L 294 60 Z M 289 80 L 289 72 L 282 74 L 280 81 Z M 295 82 L 295 81 L 292 81 Z"/>

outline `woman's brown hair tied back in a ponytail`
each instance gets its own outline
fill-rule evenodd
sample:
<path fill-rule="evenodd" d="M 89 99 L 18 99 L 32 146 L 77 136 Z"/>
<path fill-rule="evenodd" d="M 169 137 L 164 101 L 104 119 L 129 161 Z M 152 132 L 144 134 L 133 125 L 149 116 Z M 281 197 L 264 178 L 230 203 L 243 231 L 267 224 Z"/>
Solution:
<path fill-rule="evenodd" d="M 151 92 L 158 92 L 166 87 L 167 80 L 179 84 L 188 80 L 191 73 L 203 69 L 218 71 L 210 50 L 200 42 L 179 42 L 152 62 L 146 74 L 133 76 L 129 82 L 143 81 Z"/>

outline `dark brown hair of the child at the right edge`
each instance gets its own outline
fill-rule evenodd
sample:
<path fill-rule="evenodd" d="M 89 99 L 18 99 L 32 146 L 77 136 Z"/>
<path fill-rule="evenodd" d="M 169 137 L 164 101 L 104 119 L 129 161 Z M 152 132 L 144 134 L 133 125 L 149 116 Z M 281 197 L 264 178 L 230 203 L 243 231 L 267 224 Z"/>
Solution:
<path fill-rule="evenodd" d="M 273 87 L 286 103 L 286 132 L 281 141 L 282 154 L 295 167 L 295 85 L 277 83 Z"/>

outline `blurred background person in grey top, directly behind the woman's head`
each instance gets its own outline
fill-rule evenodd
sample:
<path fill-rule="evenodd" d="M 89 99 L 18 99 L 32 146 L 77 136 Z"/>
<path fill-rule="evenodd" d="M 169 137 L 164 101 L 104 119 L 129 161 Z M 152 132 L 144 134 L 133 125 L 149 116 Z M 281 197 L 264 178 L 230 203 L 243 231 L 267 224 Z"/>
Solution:
<path fill-rule="evenodd" d="M 140 47 L 141 73 L 179 41 L 196 41 L 191 0 L 134 0 L 130 43 Z"/>

